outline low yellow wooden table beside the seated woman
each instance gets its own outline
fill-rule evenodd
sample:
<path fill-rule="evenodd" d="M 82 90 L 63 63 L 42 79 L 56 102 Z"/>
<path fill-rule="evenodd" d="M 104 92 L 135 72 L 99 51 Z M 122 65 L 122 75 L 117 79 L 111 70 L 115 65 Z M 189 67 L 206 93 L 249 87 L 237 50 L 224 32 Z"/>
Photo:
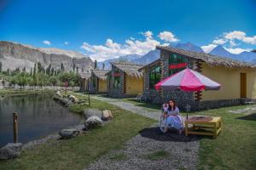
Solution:
<path fill-rule="evenodd" d="M 185 135 L 209 135 L 217 138 L 221 132 L 221 117 L 192 116 L 185 121 Z"/>

